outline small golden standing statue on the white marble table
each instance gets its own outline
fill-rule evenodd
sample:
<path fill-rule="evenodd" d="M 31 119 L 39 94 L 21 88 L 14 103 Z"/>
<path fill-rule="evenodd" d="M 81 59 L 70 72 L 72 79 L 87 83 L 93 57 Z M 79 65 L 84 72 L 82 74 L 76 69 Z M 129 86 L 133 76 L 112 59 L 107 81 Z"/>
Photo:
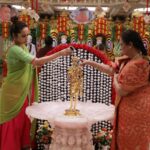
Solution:
<path fill-rule="evenodd" d="M 79 110 L 76 109 L 78 97 L 83 94 L 83 71 L 79 65 L 80 59 L 78 57 L 72 58 L 72 66 L 68 69 L 68 80 L 70 83 L 70 108 L 65 110 L 67 116 L 80 115 Z"/>

